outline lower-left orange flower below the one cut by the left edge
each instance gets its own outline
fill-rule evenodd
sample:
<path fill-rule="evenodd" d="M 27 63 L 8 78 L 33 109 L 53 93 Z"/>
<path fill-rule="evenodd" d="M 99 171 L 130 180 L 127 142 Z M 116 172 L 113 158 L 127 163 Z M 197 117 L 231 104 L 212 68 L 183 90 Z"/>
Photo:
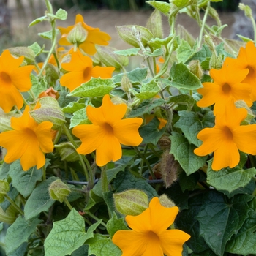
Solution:
<path fill-rule="evenodd" d="M 20 159 L 23 170 L 37 165 L 37 169 L 45 165 L 45 155 L 53 151 L 50 121 L 37 124 L 29 116 L 29 106 L 26 106 L 22 116 L 11 118 L 12 131 L 0 134 L 0 146 L 7 149 L 4 161 L 8 164 Z"/>

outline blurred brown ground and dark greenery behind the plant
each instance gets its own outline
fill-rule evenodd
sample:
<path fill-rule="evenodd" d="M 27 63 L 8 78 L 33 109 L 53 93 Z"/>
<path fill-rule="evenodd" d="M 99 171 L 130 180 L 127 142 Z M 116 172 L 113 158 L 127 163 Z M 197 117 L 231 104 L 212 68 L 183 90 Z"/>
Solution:
<path fill-rule="evenodd" d="M 239 0 L 223 0 L 211 3 L 219 10 L 222 23 L 228 25 L 223 30 L 223 37 L 232 36 L 238 2 Z M 110 46 L 119 50 L 129 45 L 118 38 L 115 26 L 131 24 L 146 26 L 146 21 L 153 10 L 145 0 L 52 0 L 51 3 L 55 10 L 62 8 L 68 12 L 68 19 L 60 21 L 58 26 L 73 25 L 75 15 L 81 13 L 89 26 L 99 27 L 110 34 L 112 37 Z M 13 46 L 31 45 L 35 41 L 39 45 L 47 46 L 48 42 L 45 42 L 47 40 L 39 37 L 37 33 L 50 30 L 50 24 L 44 21 L 28 29 L 29 23 L 43 16 L 44 12 L 44 0 L 0 0 L 0 51 Z M 199 34 L 197 23 L 187 15 L 178 15 L 177 23 L 184 26 L 195 37 Z M 208 18 L 208 24 L 213 25 L 214 20 Z M 167 36 L 169 27 L 165 17 L 163 17 L 163 25 L 165 36 Z"/>

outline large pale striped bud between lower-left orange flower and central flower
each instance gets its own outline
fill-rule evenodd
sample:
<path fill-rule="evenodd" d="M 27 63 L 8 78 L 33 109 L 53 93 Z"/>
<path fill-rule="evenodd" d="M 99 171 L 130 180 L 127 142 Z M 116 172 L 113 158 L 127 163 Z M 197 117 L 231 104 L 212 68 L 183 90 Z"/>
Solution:
<path fill-rule="evenodd" d="M 37 123 L 50 121 L 53 123 L 53 129 L 59 129 L 62 124 L 66 123 L 64 113 L 56 99 L 53 97 L 42 97 L 38 102 L 41 107 L 29 112 Z"/>

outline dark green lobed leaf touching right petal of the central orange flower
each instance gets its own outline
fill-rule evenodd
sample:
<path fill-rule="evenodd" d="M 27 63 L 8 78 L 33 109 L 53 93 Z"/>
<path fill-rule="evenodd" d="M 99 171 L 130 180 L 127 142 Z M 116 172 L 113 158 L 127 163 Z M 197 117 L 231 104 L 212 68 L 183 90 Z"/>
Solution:
<path fill-rule="evenodd" d="M 165 133 L 165 128 L 158 129 L 159 123 L 159 120 L 154 117 L 148 124 L 139 129 L 140 136 L 143 138 L 142 143 L 152 143 L 157 145 L 158 140 Z"/>

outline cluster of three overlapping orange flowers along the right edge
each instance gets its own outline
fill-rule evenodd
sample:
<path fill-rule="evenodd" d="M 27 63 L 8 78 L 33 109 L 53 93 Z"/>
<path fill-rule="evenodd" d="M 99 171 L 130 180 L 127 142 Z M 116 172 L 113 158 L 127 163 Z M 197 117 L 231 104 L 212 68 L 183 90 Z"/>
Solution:
<path fill-rule="evenodd" d="M 203 83 L 197 91 L 203 98 L 197 102 L 205 108 L 214 104 L 215 126 L 200 131 L 197 138 L 203 144 L 195 149 L 198 156 L 214 152 L 213 170 L 236 167 L 239 151 L 256 154 L 256 124 L 241 125 L 247 116 L 246 108 L 236 108 L 236 101 L 248 107 L 256 100 L 256 48 L 248 42 L 236 59 L 227 57 L 221 69 L 211 69 L 212 83 Z"/>

